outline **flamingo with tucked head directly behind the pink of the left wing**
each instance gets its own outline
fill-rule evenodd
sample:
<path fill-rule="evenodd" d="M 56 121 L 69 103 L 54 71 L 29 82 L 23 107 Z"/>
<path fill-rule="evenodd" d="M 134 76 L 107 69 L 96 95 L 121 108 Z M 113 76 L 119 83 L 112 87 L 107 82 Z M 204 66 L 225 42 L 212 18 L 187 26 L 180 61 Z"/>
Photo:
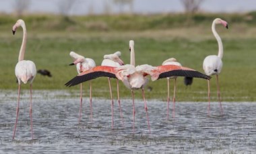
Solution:
<path fill-rule="evenodd" d="M 101 66 L 113 66 L 113 67 L 119 67 L 123 65 L 123 61 L 120 59 L 121 52 L 115 52 L 114 54 L 106 54 L 104 55 L 104 60 L 102 61 Z M 114 118 L 113 118 L 113 109 L 114 109 L 114 101 L 112 96 L 112 90 L 111 90 L 111 84 L 110 84 L 110 78 L 108 78 L 108 85 L 109 85 L 109 91 L 110 91 L 110 98 L 112 100 L 112 129 L 114 125 Z M 117 80 L 117 100 L 119 102 L 119 110 L 120 110 L 120 116 L 123 123 L 123 114 L 121 110 L 121 102 L 119 98 L 119 80 Z"/>

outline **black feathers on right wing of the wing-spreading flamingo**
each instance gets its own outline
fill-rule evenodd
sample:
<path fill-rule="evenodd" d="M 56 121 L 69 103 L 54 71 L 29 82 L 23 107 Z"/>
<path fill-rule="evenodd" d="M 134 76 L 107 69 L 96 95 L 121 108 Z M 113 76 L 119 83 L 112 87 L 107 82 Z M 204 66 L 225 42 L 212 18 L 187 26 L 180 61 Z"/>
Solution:
<path fill-rule="evenodd" d="M 160 78 L 168 78 L 171 76 L 186 76 L 191 78 L 204 78 L 206 80 L 210 80 L 212 77 L 207 76 L 205 74 L 202 74 L 201 72 L 198 72 L 196 70 L 171 70 L 168 72 L 161 73 L 158 77 Z"/>

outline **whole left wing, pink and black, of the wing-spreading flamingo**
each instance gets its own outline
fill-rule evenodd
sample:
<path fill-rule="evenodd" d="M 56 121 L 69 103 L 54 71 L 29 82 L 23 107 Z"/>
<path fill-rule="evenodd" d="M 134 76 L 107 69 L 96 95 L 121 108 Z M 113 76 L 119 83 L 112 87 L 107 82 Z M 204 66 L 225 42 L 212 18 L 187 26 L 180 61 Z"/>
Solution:
<path fill-rule="evenodd" d="M 108 77 L 108 78 L 117 78 L 115 67 L 111 66 L 96 66 L 90 70 L 86 70 L 65 84 L 65 86 L 75 86 L 82 82 L 86 82 L 88 80 L 92 80 L 99 77 Z"/>

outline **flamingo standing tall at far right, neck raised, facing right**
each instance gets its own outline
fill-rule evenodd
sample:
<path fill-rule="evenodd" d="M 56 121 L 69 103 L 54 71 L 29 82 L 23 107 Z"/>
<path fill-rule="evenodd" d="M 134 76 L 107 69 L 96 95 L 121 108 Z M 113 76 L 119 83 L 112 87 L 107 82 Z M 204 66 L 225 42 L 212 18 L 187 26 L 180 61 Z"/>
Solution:
<path fill-rule="evenodd" d="M 223 112 L 222 110 L 222 102 L 220 100 L 220 86 L 218 82 L 218 75 L 220 74 L 222 70 L 222 56 L 223 56 L 223 45 L 222 45 L 222 40 L 220 38 L 220 35 L 216 32 L 215 26 L 216 24 L 222 24 L 224 27 L 228 29 L 228 23 L 220 18 L 214 19 L 212 22 L 212 32 L 214 33 L 214 36 L 216 37 L 216 40 L 218 42 L 218 56 L 216 55 L 210 55 L 207 56 L 203 60 L 203 70 L 205 74 L 208 76 L 216 75 L 216 80 L 217 80 L 217 88 L 218 88 L 218 100 L 220 102 L 220 108 L 221 108 L 221 114 Z M 210 81 L 208 80 L 208 116 L 210 115 Z"/>

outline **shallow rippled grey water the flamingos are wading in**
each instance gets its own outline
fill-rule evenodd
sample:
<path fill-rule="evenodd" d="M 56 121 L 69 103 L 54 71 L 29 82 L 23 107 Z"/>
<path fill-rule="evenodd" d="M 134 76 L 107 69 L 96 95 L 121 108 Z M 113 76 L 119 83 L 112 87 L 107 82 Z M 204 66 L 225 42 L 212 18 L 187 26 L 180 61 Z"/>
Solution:
<path fill-rule="evenodd" d="M 152 133 L 148 131 L 143 101 L 133 106 L 122 99 L 124 126 L 115 100 L 114 129 L 111 129 L 110 100 L 93 98 L 93 121 L 88 98 L 84 98 L 82 121 L 78 123 L 79 97 L 57 91 L 35 91 L 33 100 L 34 139 L 31 139 L 28 93 L 22 93 L 15 139 L 12 139 L 17 94 L 0 96 L 0 153 L 255 153 L 255 102 L 177 102 L 176 117 L 166 120 L 166 102 L 148 100 Z"/>

